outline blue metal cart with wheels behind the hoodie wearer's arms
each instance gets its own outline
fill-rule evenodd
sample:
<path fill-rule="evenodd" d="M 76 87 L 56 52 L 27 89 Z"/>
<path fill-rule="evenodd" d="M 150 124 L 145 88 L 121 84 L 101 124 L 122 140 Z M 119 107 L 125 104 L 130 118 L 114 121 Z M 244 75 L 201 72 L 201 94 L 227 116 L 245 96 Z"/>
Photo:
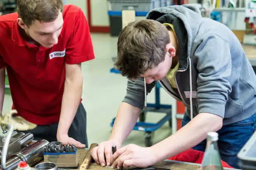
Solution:
<path fill-rule="evenodd" d="M 110 73 L 120 73 L 116 68 L 111 68 Z M 140 113 L 139 121 L 133 127 L 133 130 L 138 130 L 145 132 L 145 146 L 152 146 L 152 132 L 159 129 L 166 123 L 169 122 L 169 126 L 171 127 L 171 105 L 160 104 L 160 88 L 161 85 L 159 83 L 155 86 L 155 103 L 147 103 L 147 108 L 143 109 Z M 147 112 L 158 112 L 165 113 L 165 116 L 159 120 L 157 123 L 146 123 L 145 117 Z M 111 127 L 113 127 L 116 118 L 112 119 L 110 123 Z"/>

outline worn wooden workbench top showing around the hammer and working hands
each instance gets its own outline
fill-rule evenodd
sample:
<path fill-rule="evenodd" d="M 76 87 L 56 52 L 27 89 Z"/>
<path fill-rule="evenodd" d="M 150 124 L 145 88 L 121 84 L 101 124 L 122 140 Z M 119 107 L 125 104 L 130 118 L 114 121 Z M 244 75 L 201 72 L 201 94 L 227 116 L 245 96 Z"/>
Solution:
<path fill-rule="evenodd" d="M 84 160 L 87 152 L 88 152 L 87 149 L 78 149 L 79 165 Z M 199 164 L 171 161 L 171 160 L 162 161 L 160 163 L 157 163 L 156 165 L 169 167 L 171 168 L 171 170 L 200 170 Z M 109 167 L 101 167 L 97 163 L 91 163 L 91 165 L 89 166 L 89 170 L 114 170 L 114 169 Z M 225 170 L 235 170 L 235 169 L 225 168 Z"/>

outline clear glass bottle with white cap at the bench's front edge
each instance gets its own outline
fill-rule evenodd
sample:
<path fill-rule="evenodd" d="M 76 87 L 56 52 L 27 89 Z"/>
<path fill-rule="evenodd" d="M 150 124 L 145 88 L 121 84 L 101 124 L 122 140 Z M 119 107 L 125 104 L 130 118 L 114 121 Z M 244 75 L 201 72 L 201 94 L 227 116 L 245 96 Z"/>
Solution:
<path fill-rule="evenodd" d="M 201 164 L 201 170 L 223 170 L 217 143 L 218 136 L 217 132 L 207 133 L 207 144 Z"/>

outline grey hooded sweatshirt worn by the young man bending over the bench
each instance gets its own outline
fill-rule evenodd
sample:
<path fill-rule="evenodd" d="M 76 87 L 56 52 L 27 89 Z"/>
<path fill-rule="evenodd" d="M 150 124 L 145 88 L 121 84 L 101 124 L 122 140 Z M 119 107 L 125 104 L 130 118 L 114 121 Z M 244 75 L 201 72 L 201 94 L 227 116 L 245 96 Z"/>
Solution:
<path fill-rule="evenodd" d="M 220 22 L 201 17 L 193 5 L 174 5 L 151 10 L 147 19 L 174 25 L 179 43 L 177 89 L 166 78 L 163 89 L 186 106 L 192 119 L 199 113 L 223 118 L 223 125 L 256 113 L 256 75 L 236 35 Z M 144 78 L 127 83 L 123 102 L 143 109 L 156 82 Z"/>

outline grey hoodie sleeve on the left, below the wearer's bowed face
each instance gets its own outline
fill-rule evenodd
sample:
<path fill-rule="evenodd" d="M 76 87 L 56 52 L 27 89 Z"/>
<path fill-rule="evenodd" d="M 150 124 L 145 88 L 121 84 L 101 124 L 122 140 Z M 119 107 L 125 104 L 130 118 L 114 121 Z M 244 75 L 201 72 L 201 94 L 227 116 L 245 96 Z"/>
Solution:
<path fill-rule="evenodd" d="M 155 81 L 151 84 L 146 84 L 147 94 L 151 92 L 153 87 L 155 87 Z M 141 110 L 143 109 L 145 102 L 144 78 L 135 81 L 128 80 L 126 96 L 123 102 L 138 107 Z"/>

